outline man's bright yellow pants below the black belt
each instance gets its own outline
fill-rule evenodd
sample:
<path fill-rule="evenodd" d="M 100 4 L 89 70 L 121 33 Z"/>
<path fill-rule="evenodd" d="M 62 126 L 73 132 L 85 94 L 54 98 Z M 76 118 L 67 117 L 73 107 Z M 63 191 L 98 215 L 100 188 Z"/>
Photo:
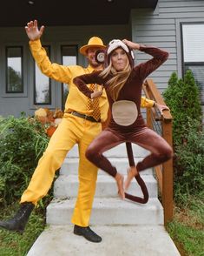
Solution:
<path fill-rule="evenodd" d="M 55 177 L 55 172 L 61 165 L 69 150 L 79 146 L 79 190 L 76 207 L 71 221 L 78 226 L 89 226 L 89 218 L 97 179 L 97 167 L 85 157 L 90 142 L 102 131 L 101 123 L 93 123 L 71 114 L 65 114 L 49 145 L 40 158 L 30 185 L 23 192 L 21 203 L 37 201 L 47 194 Z"/>

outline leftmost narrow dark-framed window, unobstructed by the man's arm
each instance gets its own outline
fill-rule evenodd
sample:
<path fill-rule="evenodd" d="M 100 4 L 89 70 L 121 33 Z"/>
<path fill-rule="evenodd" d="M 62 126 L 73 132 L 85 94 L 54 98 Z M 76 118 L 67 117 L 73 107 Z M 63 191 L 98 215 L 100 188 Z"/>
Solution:
<path fill-rule="evenodd" d="M 23 49 L 6 48 L 6 92 L 23 92 Z"/>

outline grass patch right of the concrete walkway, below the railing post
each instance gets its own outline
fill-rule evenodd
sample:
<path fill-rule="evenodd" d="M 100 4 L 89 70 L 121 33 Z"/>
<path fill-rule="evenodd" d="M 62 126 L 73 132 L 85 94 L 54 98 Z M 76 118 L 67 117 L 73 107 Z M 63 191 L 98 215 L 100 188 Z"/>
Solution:
<path fill-rule="evenodd" d="M 184 205 L 175 207 L 168 232 L 181 256 L 204 256 L 204 200 L 188 197 Z"/>

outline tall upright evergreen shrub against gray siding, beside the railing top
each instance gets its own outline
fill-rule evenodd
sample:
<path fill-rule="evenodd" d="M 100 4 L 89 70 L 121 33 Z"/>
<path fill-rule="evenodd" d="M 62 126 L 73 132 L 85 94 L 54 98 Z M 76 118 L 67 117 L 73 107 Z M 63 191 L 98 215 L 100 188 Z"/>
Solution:
<path fill-rule="evenodd" d="M 201 124 L 201 100 L 199 87 L 192 71 L 187 71 L 184 79 L 173 73 L 168 81 L 168 89 L 163 97 L 173 116 L 173 143 L 181 145 L 188 137 L 189 125 L 198 121 Z"/>

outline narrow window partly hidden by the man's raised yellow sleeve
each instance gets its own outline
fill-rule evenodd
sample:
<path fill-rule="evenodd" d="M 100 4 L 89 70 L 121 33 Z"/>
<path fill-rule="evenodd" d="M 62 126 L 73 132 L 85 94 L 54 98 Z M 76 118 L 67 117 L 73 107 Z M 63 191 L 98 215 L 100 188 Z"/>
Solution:
<path fill-rule="evenodd" d="M 43 46 L 49 56 L 49 46 Z M 51 104 L 50 79 L 43 75 L 35 63 L 35 100 L 34 104 Z"/>

